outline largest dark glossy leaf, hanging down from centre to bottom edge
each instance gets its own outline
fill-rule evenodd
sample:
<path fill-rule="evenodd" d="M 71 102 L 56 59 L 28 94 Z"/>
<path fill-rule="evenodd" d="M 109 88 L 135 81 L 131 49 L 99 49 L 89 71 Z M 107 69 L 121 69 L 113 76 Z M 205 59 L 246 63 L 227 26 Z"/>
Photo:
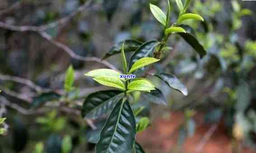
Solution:
<path fill-rule="evenodd" d="M 96 153 L 132 153 L 136 123 L 130 103 L 121 99 L 100 133 Z"/>

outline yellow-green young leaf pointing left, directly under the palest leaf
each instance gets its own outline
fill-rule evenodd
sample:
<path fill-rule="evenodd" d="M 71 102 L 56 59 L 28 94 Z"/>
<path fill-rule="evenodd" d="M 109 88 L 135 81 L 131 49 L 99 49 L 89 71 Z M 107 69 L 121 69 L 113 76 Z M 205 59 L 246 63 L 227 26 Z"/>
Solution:
<path fill-rule="evenodd" d="M 102 85 L 112 86 L 121 90 L 125 90 L 125 85 L 123 81 L 114 76 L 97 76 L 93 78 L 93 80 L 99 82 Z"/>

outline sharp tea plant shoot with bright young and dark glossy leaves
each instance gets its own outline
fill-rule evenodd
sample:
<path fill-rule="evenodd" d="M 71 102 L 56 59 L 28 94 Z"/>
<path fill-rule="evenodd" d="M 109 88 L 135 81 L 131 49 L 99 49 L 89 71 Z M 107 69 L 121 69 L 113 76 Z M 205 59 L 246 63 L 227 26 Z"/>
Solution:
<path fill-rule="evenodd" d="M 131 103 L 133 102 L 133 93 L 139 91 L 156 99 L 158 103 L 167 104 L 161 92 L 146 77 L 153 75 L 160 78 L 171 88 L 180 91 L 184 95 L 188 94 L 187 88 L 175 76 L 161 72 L 150 74 L 146 66 L 156 64 L 163 57 L 163 51 L 170 49 L 167 45 L 169 37 L 176 33 L 188 42 L 203 57 L 206 54 L 203 46 L 199 44 L 195 36 L 188 33 L 186 29 L 189 26 L 182 23 L 187 19 L 204 21 L 198 14 L 186 13 L 191 0 L 186 0 L 185 4 L 181 0 L 175 1 L 179 8 L 177 21 L 170 24 L 170 2 L 167 0 L 167 14 L 157 7 L 150 4 L 153 16 L 163 26 L 163 36 L 161 41 L 149 40 L 141 43 L 137 40 L 125 40 L 114 46 L 104 58 L 114 54 L 121 54 L 123 62 L 123 72 L 112 69 L 96 69 L 87 72 L 85 75 L 92 77 L 102 85 L 117 88 L 117 90 L 104 90 L 90 94 L 83 104 L 82 117 L 91 119 L 99 118 L 109 114 L 103 129 L 100 132 L 100 139 L 96 145 L 96 153 L 143 153 L 141 146 L 135 141 L 136 133 L 145 130 L 149 120 L 147 117 L 137 121 L 137 114 L 141 110 L 134 111 Z M 129 63 L 127 63 L 126 52 L 134 52 Z M 140 73 L 139 73 L 140 72 Z M 134 78 L 135 75 L 139 76 Z M 140 75 L 142 74 L 142 75 Z"/>

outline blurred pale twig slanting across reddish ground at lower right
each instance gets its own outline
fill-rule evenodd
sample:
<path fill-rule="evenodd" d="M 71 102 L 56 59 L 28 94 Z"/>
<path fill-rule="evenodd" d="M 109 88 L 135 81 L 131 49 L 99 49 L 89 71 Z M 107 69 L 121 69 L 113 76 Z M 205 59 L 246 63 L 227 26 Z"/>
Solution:
<path fill-rule="evenodd" d="M 209 141 L 209 139 L 212 137 L 214 134 L 215 130 L 217 130 L 218 124 L 214 124 L 213 126 L 210 127 L 210 129 L 207 131 L 207 133 L 204 135 L 203 139 L 199 142 L 199 144 L 196 147 L 196 150 L 194 153 L 201 153 L 205 144 Z"/>

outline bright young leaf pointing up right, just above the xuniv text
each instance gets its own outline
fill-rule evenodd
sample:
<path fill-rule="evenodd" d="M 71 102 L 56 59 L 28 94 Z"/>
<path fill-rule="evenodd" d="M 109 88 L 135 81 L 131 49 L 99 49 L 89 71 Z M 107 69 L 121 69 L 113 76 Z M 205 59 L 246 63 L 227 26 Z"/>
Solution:
<path fill-rule="evenodd" d="M 144 67 L 146 65 L 152 64 L 152 63 L 156 63 L 158 61 L 160 61 L 161 59 L 156 59 L 156 58 L 140 58 L 139 60 L 137 60 L 137 62 L 135 62 L 133 64 L 133 66 L 131 67 L 130 71 L 128 72 L 128 74 L 131 74 L 132 72 L 136 71 L 137 69 Z"/>

